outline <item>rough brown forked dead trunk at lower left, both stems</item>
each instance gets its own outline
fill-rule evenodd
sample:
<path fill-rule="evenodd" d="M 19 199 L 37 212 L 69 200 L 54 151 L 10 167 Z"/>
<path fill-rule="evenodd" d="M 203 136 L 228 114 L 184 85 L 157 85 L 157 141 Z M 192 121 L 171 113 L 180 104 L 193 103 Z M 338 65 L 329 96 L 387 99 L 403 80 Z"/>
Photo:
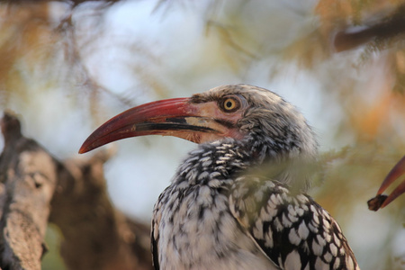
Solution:
<path fill-rule="evenodd" d="M 148 225 L 117 211 L 106 193 L 106 153 L 58 161 L 23 137 L 20 121 L 1 121 L 0 267 L 40 269 L 49 222 L 63 234 L 68 269 L 152 269 Z"/>

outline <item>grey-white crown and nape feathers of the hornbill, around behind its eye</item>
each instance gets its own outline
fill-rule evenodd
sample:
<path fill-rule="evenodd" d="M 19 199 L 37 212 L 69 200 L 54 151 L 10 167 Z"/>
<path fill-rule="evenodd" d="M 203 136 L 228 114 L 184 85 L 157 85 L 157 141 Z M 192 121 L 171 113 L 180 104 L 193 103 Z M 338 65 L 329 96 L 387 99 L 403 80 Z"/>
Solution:
<path fill-rule="evenodd" d="M 257 163 L 263 164 L 260 171 L 300 190 L 307 189 L 318 143 L 302 113 L 278 94 L 254 85 L 222 85 L 193 98 L 208 102 L 227 94 L 237 94 L 247 103 L 237 125 L 247 134 L 245 139 Z"/>

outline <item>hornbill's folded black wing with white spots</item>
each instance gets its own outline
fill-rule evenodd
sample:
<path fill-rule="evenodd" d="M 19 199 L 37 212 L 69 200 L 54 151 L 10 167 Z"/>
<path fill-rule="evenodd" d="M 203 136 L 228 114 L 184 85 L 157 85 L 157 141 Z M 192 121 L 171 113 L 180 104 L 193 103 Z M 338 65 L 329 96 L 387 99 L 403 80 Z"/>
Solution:
<path fill-rule="evenodd" d="M 229 207 L 282 269 L 359 269 L 338 223 L 306 194 L 241 176 L 230 189 Z"/>

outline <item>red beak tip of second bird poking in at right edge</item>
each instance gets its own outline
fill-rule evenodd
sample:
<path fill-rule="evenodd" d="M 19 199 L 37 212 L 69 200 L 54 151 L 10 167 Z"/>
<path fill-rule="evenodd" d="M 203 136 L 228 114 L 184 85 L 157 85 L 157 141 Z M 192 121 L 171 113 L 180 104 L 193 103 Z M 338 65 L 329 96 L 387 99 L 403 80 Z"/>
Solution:
<path fill-rule="evenodd" d="M 381 184 L 380 189 L 377 192 L 377 195 L 381 195 L 390 184 L 392 184 L 395 180 L 401 177 L 401 175 L 405 174 L 405 156 L 401 158 L 401 160 L 395 165 L 390 173 L 385 177 L 383 184 Z M 398 196 L 402 193 L 405 193 L 405 179 L 398 185 L 390 195 L 385 199 L 381 208 L 387 206 L 390 202 L 395 200 Z"/>

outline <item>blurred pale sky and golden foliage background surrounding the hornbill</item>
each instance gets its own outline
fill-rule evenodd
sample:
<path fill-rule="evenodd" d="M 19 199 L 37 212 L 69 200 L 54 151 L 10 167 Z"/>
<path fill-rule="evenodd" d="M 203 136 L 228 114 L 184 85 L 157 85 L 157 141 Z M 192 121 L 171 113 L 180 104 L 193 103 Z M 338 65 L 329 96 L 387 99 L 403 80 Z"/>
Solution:
<path fill-rule="evenodd" d="M 366 201 L 405 154 L 405 99 L 392 90 L 398 85 L 395 72 L 401 71 L 392 63 L 401 64 L 403 49 L 337 52 L 330 44 L 338 23 L 325 23 L 333 11 L 320 9 L 320 3 L 90 2 L 73 12 L 69 4 L 50 3 L 52 31 L 40 29 L 31 43 L 27 37 L 14 40 L 25 50 L 13 58 L 13 72 L 0 78 L 1 109 L 19 113 L 27 137 L 55 157 L 68 158 L 79 156 L 78 148 L 98 125 L 131 106 L 218 85 L 270 89 L 304 114 L 321 152 L 336 155 L 324 184 L 311 195 L 341 224 L 362 269 L 401 269 L 395 260 L 402 257 L 405 264 L 404 198 L 377 212 L 369 211 Z M 378 8 L 388 14 L 395 8 L 382 6 L 364 4 L 357 23 L 364 27 L 373 22 L 369 18 L 383 16 Z M 13 12 L 23 16 L 19 8 Z M 356 9 L 352 12 L 342 12 L 342 21 L 354 21 Z M 74 31 L 59 24 L 68 15 Z M 3 29 L 15 21 L 5 16 Z M 14 37 L 13 31 L 3 31 L 0 40 Z M 158 194 L 195 145 L 155 136 L 107 148 L 116 151 L 105 165 L 112 202 L 148 222 Z"/>

